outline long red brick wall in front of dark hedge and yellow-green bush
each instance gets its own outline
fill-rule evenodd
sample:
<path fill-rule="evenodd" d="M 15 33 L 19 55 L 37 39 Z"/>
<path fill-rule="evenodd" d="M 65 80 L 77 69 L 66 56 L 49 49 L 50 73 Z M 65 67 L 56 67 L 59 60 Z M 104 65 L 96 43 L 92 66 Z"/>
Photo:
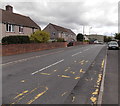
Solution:
<path fill-rule="evenodd" d="M 67 46 L 66 42 L 2 45 L 2 55 L 3 56 L 14 55 L 46 49 L 63 48 L 66 46 Z"/>

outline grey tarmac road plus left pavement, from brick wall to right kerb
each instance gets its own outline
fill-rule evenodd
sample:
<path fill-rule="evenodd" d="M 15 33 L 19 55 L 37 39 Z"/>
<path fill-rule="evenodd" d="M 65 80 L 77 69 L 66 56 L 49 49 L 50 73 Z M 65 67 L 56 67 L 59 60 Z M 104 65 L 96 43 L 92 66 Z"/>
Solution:
<path fill-rule="evenodd" d="M 4 56 L 3 104 L 96 104 L 105 56 L 105 45 Z"/>

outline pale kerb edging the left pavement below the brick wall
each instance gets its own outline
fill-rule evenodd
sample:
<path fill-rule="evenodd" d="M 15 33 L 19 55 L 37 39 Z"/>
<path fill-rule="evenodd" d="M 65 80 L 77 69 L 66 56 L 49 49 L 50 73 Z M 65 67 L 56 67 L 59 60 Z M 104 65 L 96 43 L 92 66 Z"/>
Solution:
<path fill-rule="evenodd" d="M 51 52 L 51 53 L 38 55 L 38 56 L 33 56 L 33 57 L 28 57 L 28 58 L 24 58 L 24 59 L 19 59 L 19 60 L 16 60 L 16 61 L 11 61 L 11 62 L 8 62 L 8 63 L 1 64 L 1 65 L 4 66 L 4 65 L 12 64 L 12 63 L 24 62 L 24 61 L 28 61 L 28 60 L 35 59 L 35 58 L 40 58 L 40 57 L 43 57 L 43 56 L 47 56 L 47 55 L 51 55 L 51 54 L 55 54 L 55 53 L 60 53 L 60 52 L 63 52 L 63 51 L 64 50 L 61 50 L 61 51 L 58 51 L 58 52 Z"/>

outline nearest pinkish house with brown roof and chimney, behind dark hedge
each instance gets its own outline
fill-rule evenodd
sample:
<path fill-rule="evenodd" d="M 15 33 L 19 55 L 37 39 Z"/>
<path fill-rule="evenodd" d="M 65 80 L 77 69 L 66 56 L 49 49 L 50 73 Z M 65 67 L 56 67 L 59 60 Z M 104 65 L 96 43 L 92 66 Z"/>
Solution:
<path fill-rule="evenodd" d="M 13 13 L 13 7 L 10 5 L 6 6 L 6 10 L 0 9 L 0 13 L 2 13 L 1 39 L 9 35 L 30 35 L 41 29 L 30 17 Z"/>

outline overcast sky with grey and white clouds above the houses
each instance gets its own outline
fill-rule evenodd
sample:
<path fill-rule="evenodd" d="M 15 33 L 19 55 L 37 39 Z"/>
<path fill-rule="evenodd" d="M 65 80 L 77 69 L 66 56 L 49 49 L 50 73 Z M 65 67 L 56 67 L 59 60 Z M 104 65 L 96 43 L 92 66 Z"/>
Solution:
<path fill-rule="evenodd" d="M 118 32 L 119 0 L 2 0 L 0 8 L 31 17 L 42 29 L 49 23 L 76 34 L 113 35 Z M 90 29 L 90 27 L 92 27 Z"/>

